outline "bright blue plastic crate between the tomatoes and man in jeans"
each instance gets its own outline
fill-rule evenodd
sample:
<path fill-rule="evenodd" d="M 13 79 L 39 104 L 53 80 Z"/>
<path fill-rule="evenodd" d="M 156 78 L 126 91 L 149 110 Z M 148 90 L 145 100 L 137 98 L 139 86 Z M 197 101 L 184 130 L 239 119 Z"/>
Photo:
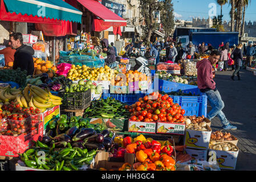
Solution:
<path fill-rule="evenodd" d="M 173 103 L 178 103 L 181 109 L 185 110 L 184 115 L 206 116 L 207 114 L 207 96 L 170 96 Z"/>

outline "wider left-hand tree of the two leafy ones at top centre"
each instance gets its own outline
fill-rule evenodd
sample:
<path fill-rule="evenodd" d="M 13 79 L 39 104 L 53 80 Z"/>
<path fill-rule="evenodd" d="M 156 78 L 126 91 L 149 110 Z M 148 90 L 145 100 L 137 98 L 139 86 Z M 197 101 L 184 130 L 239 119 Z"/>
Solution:
<path fill-rule="evenodd" d="M 150 44 L 150 38 L 153 30 L 159 26 L 159 23 L 155 21 L 155 13 L 161 11 L 162 3 L 158 0 L 140 0 L 140 12 L 141 12 L 141 22 L 145 23 L 143 30 L 145 32 L 145 40 L 147 45 Z"/>

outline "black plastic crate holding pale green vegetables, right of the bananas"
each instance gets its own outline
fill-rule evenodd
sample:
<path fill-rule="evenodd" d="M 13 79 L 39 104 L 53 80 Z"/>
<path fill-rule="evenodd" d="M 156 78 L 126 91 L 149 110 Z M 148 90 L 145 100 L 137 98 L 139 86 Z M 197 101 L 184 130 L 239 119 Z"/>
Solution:
<path fill-rule="evenodd" d="M 63 109 L 86 109 L 91 104 L 91 89 L 86 92 L 59 92 Z"/>

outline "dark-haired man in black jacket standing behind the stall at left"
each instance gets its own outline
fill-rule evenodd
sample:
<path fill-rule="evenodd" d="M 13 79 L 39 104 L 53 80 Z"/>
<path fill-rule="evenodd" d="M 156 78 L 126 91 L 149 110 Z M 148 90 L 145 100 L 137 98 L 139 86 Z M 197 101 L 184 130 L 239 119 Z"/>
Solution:
<path fill-rule="evenodd" d="M 15 49 L 13 69 L 26 70 L 27 75 L 34 73 L 34 60 L 32 55 L 35 51 L 32 47 L 23 44 L 22 34 L 16 32 L 10 35 L 10 46 Z"/>

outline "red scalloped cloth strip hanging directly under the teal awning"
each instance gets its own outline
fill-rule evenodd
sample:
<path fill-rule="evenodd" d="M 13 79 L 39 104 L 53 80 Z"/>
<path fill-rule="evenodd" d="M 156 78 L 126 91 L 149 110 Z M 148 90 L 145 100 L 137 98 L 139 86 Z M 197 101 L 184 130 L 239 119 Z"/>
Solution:
<path fill-rule="evenodd" d="M 32 15 L 22 15 L 21 13 L 9 13 L 5 9 L 5 4 L 1 0 L 0 5 L 0 20 L 10 22 L 27 22 L 27 23 L 46 23 L 46 24 L 60 24 L 61 21 L 58 19 L 42 18 Z"/>

